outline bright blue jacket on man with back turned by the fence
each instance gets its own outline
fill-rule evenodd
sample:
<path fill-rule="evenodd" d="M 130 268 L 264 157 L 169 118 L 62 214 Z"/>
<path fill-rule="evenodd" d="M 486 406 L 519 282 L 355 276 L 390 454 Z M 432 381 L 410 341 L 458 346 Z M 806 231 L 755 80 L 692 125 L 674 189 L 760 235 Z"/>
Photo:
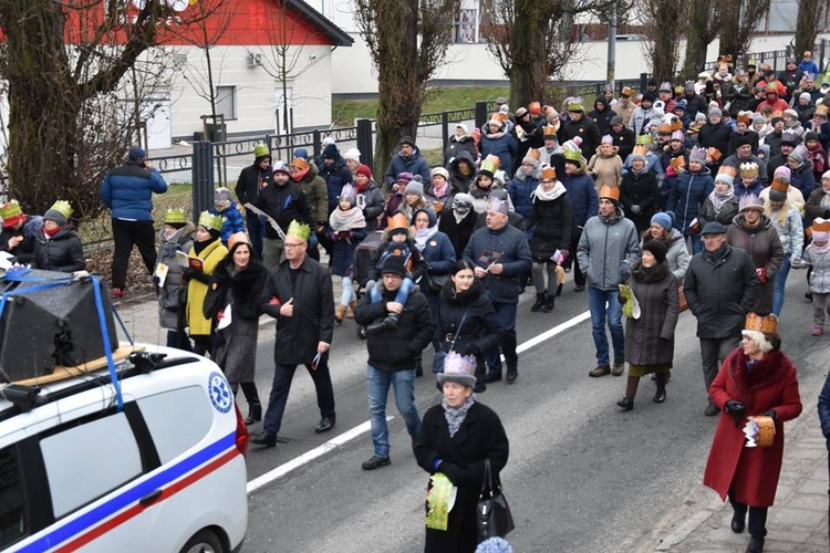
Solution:
<path fill-rule="evenodd" d="M 127 161 L 107 171 L 101 184 L 101 201 L 113 212 L 113 219 L 153 220 L 153 192 L 167 191 L 167 182 L 157 169 L 145 169 L 138 161 Z"/>

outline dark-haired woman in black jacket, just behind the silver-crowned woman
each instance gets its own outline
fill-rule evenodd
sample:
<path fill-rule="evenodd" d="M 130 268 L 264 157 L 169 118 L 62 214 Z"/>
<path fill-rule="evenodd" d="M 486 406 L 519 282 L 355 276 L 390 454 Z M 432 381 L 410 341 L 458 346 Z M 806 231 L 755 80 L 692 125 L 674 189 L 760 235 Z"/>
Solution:
<path fill-rule="evenodd" d="M 436 352 L 448 353 L 452 349 L 463 355 L 475 355 L 478 376 L 476 392 L 484 392 L 484 352 L 498 347 L 501 331 L 496 310 L 484 295 L 484 286 L 475 278 L 474 269 L 473 263 L 460 260 L 449 271 L 449 282 L 440 291 L 433 345 Z"/>

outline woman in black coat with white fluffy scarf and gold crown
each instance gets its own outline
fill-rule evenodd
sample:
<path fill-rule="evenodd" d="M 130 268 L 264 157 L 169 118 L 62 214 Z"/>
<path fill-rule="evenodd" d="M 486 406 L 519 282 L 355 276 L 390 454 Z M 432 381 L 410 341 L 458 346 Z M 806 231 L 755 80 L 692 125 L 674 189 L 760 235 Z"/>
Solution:
<path fill-rule="evenodd" d="M 550 313 L 560 290 L 557 265 L 568 257 L 568 249 L 571 247 L 573 209 L 564 185 L 557 180 L 553 167 L 542 169 L 541 180 L 531 198 L 527 223 L 531 232 L 531 273 L 536 286 L 536 303 L 530 311 Z M 557 251 L 560 257 L 553 259 Z"/>

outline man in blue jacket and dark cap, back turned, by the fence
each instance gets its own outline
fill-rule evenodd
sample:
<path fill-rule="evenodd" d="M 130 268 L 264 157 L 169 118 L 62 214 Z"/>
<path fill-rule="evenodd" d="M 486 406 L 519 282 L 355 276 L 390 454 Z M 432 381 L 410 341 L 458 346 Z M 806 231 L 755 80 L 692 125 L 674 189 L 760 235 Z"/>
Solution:
<path fill-rule="evenodd" d="M 167 182 L 146 157 L 144 149 L 133 146 L 127 161 L 111 169 L 101 185 L 101 200 L 113 213 L 113 298 L 124 295 L 133 246 L 138 247 L 148 273 L 156 264 L 153 192 L 166 192 Z"/>

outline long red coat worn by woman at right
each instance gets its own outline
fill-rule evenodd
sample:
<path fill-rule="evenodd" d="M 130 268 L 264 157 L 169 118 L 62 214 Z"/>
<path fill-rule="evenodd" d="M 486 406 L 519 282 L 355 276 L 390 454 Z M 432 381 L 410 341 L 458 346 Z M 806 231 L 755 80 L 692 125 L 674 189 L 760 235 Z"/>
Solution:
<path fill-rule="evenodd" d="M 735 499 L 753 507 L 769 507 L 775 501 L 784 457 L 784 422 L 801 414 L 798 377 L 792 363 L 781 352 L 769 352 L 750 374 L 740 347 L 724 359 L 709 395 L 720 407 L 720 419 L 712 441 L 704 486 L 726 499 L 734 488 Z M 746 405 L 746 416 L 776 413 L 776 437 L 771 447 L 744 447 L 744 425 L 723 413 L 724 404 L 735 399 Z"/>

